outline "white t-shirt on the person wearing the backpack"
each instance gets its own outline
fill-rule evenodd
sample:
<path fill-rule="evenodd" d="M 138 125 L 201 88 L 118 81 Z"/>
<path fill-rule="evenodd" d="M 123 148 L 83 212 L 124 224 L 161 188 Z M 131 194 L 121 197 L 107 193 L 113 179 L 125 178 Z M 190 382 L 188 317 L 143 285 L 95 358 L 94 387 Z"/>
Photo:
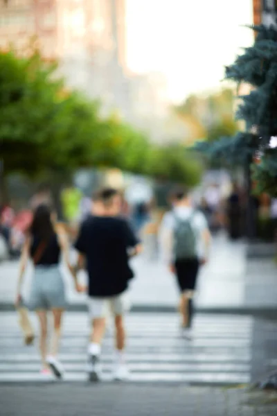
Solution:
<path fill-rule="evenodd" d="M 201 211 L 195 211 L 193 207 L 176 207 L 173 211 L 166 213 L 161 222 L 159 232 L 159 239 L 163 257 L 167 261 L 171 261 L 172 257 L 172 232 L 175 228 L 175 216 L 183 218 L 192 218 L 192 225 L 197 239 L 197 254 L 199 259 L 204 257 L 205 247 L 202 234 L 205 229 L 208 229 L 207 220 Z"/>

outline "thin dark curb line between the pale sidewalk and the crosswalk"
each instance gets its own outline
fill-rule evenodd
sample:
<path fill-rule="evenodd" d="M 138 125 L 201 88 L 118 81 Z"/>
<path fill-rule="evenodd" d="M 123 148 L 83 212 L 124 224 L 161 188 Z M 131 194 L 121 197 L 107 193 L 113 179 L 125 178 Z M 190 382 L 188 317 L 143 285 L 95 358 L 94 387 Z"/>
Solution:
<path fill-rule="evenodd" d="M 11 312 L 15 311 L 15 305 L 11 302 L 0 302 L 0 312 Z M 82 304 L 69 304 L 67 308 L 69 312 L 87 312 L 87 305 Z M 134 304 L 131 308 L 131 312 L 136 313 L 176 313 L 177 308 L 174 306 L 165 306 L 165 305 L 151 305 L 151 304 Z M 211 307 L 204 308 L 199 307 L 195 308 L 196 313 L 205 313 L 213 315 L 251 315 L 258 318 L 267 318 L 276 320 L 277 316 L 277 307 L 264 308 L 222 308 L 222 307 Z"/>

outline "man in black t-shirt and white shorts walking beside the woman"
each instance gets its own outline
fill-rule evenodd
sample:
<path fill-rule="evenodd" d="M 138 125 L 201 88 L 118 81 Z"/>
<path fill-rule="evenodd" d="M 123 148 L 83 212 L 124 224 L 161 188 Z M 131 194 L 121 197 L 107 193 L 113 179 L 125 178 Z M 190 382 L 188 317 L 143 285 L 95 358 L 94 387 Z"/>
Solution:
<path fill-rule="evenodd" d="M 89 276 L 89 311 L 92 318 L 89 345 L 89 379 L 100 379 L 100 346 L 105 332 L 107 307 L 114 315 L 117 361 L 115 379 L 127 376 L 123 350 L 125 292 L 134 276 L 129 257 L 141 251 L 139 240 L 124 218 L 120 218 L 120 196 L 114 189 L 103 189 L 93 198 L 93 215 L 82 223 L 75 248 L 78 269 L 86 264 Z"/>

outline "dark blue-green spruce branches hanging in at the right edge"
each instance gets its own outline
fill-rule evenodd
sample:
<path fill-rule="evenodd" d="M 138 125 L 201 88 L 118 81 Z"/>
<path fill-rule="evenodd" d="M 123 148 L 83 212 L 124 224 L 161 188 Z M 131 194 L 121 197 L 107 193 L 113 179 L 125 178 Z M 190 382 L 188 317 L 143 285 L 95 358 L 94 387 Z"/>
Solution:
<path fill-rule="evenodd" d="M 212 159 L 220 155 L 229 164 L 245 165 L 258 158 L 259 163 L 251 166 L 256 191 L 277 196 L 277 151 L 270 147 L 271 137 L 277 136 L 277 30 L 264 25 L 251 28 L 257 33 L 253 46 L 226 67 L 227 79 L 253 87 L 240 97 L 236 114 L 245 122 L 246 131 L 197 148 Z"/>

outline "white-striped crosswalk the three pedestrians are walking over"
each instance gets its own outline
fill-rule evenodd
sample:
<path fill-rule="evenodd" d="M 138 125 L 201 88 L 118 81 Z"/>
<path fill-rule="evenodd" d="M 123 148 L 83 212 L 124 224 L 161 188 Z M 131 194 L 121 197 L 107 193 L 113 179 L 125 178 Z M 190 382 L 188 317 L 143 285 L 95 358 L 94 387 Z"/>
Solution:
<path fill-rule="evenodd" d="M 37 330 L 35 316 L 32 322 Z M 248 383 L 253 320 L 247 316 L 196 315 L 192 339 L 179 331 L 175 313 L 130 313 L 127 324 L 129 382 Z M 0 383 L 38 382 L 37 345 L 26 347 L 16 313 L 0 314 Z M 89 320 L 86 313 L 64 317 L 60 360 L 65 381 L 85 381 Z M 36 343 L 37 344 L 37 343 Z M 114 339 L 108 328 L 102 348 L 103 379 L 111 380 Z"/>

